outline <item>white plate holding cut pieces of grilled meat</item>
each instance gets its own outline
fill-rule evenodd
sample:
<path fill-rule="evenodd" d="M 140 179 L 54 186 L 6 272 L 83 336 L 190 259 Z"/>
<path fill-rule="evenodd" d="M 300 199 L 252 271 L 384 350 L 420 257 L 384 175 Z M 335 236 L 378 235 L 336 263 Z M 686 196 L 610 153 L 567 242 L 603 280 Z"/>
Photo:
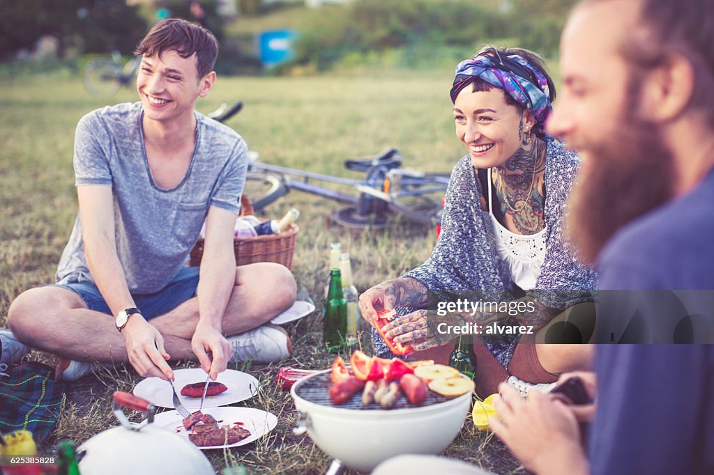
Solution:
<path fill-rule="evenodd" d="M 261 409 L 253 409 L 252 407 L 211 407 L 209 409 L 204 407 L 201 412 L 203 412 L 203 414 L 211 414 L 211 416 L 216 418 L 216 421 L 220 421 L 218 422 L 218 427 L 224 425 L 232 427 L 233 422 L 243 422 L 242 427 L 251 432 L 251 435 L 243 440 L 237 441 L 235 444 L 198 447 L 198 449 L 201 450 L 223 449 L 225 447 L 237 447 L 239 445 L 250 444 L 252 441 L 268 434 L 268 432 L 275 429 L 278 425 L 278 418 L 275 414 L 261 411 Z M 186 428 L 183 427 L 183 424 L 181 424 L 181 421 L 183 421 L 183 417 L 176 411 L 161 412 L 161 414 L 156 414 L 154 417 L 154 425 L 156 425 L 156 427 L 164 427 L 188 439 L 188 434 L 191 431 L 187 431 Z"/>

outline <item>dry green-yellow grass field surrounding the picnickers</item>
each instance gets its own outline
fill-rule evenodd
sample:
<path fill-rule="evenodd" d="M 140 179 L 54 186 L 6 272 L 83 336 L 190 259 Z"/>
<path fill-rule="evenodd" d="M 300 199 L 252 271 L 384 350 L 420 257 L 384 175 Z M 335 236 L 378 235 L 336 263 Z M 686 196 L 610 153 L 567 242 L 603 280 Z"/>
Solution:
<path fill-rule="evenodd" d="M 134 101 L 133 90 L 103 100 L 84 92 L 79 78 L 29 76 L 0 84 L 0 326 L 16 295 L 54 281 L 54 271 L 77 212 L 72 170 L 74 127 L 84 113 L 106 103 Z M 284 78 L 220 78 L 198 109 L 212 111 L 225 101 L 241 100 L 243 112 L 228 121 L 258 150 L 261 160 L 295 168 L 349 176 L 344 158 L 377 153 L 393 146 L 405 164 L 448 171 L 463 155 L 453 133 L 448 89 L 451 69 L 410 73 L 340 73 Z M 433 230 L 393 223 L 381 232 L 348 233 L 326 225 L 334 203 L 293 192 L 270 208 L 279 218 L 288 208 L 302 215 L 294 272 L 298 290 L 321 305 L 327 275 L 328 243 L 340 241 L 351 253 L 359 290 L 423 262 L 434 244 Z M 295 436 L 296 413 L 288 394 L 273 384 L 279 366 L 320 369 L 333 356 L 321 351 L 321 320 L 316 312 L 288 326 L 296 352 L 276 365 L 242 367 L 261 380 L 258 397 L 246 402 L 278 415 L 270 436 L 247 447 L 212 451 L 220 471 L 241 463 L 256 474 L 324 473 L 330 458 L 308 436 Z M 369 351 L 366 348 L 366 351 Z M 31 357 L 50 362 L 49 355 Z M 180 362 L 174 367 L 191 366 Z M 94 404 L 68 402 L 52 443 L 77 443 L 114 426 L 109 395 L 131 390 L 139 377 L 128 369 L 100 374 Z M 424 428 L 428 430 L 427 427 Z M 49 449 L 49 448 L 48 448 Z M 503 447 L 467 422 L 448 456 L 493 468 L 501 466 Z M 508 473 L 517 464 L 511 461 Z M 516 469 L 518 471 L 518 469 Z"/>

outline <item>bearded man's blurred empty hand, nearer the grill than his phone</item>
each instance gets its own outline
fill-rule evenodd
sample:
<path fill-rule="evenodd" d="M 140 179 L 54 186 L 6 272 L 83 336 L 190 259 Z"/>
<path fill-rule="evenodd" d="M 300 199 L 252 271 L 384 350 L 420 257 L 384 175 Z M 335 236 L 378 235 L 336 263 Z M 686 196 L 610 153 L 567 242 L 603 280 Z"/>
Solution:
<path fill-rule="evenodd" d="M 575 415 L 560 401 L 538 390 L 521 394 L 506 383 L 494 401 L 498 418 L 491 429 L 526 469 L 536 474 L 587 474 Z M 500 420 L 498 420 L 500 419 Z"/>

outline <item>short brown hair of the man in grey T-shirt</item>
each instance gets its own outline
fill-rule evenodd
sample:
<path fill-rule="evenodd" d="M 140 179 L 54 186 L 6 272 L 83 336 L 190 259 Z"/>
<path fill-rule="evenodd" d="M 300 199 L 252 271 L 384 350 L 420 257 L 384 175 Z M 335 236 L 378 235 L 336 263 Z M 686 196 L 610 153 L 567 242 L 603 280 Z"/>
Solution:
<path fill-rule="evenodd" d="M 190 21 L 171 18 L 154 25 L 134 54 L 160 56 L 164 51 L 176 51 L 181 58 L 196 54 L 198 77 L 203 78 L 213 71 L 218 56 L 218 41 L 211 31 Z"/>

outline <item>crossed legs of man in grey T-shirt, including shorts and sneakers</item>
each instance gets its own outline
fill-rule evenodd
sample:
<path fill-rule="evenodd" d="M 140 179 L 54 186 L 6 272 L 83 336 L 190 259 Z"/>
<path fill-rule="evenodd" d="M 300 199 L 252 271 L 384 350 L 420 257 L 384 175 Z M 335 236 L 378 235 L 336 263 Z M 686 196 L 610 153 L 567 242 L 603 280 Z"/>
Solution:
<path fill-rule="evenodd" d="M 191 338 L 198 323 L 197 285 L 198 268 L 188 267 L 161 292 L 135 296 L 146 320 L 164 337 L 171 359 L 196 359 Z M 8 312 L 9 326 L 21 342 L 75 360 L 69 368 L 69 361 L 60 368 L 64 379 L 91 371 L 89 363 L 78 362 L 128 361 L 114 316 L 99 290 L 92 287 L 36 287 L 19 295 Z M 236 267 L 235 286 L 223 316 L 223 334 L 233 347 L 231 361 L 275 362 L 292 354 L 286 332 L 264 324 L 287 310 L 295 294 L 293 275 L 282 265 L 260 262 Z"/>

